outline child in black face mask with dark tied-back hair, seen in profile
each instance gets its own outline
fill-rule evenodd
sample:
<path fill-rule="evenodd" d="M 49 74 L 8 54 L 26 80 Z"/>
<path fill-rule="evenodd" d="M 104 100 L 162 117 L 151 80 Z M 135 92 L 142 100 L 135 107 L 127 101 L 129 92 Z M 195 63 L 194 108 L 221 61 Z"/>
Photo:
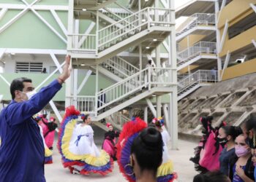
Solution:
<path fill-rule="evenodd" d="M 235 154 L 235 140 L 238 135 L 241 135 L 241 127 L 223 126 L 219 128 L 218 141 L 224 147 L 219 156 L 219 170 L 225 175 L 228 175 L 228 165 L 230 158 Z"/>

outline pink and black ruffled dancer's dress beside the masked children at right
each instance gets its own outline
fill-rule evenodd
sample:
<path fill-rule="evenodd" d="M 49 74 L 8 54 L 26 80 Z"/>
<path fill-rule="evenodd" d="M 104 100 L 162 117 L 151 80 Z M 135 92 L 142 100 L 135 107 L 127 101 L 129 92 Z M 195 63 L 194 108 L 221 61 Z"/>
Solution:
<path fill-rule="evenodd" d="M 219 135 L 219 128 L 224 126 L 225 122 L 214 128 L 211 126 L 212 119 L 212 116 L 200 118 L 200 122 L 203 124 L 203 137 L 195 148 L 195 157 L 189 159 L 195 163 L 195 170 L 200 173 L 219 170 L 219 156 L 224 148 L 219 144 L 217 136 Z"/>

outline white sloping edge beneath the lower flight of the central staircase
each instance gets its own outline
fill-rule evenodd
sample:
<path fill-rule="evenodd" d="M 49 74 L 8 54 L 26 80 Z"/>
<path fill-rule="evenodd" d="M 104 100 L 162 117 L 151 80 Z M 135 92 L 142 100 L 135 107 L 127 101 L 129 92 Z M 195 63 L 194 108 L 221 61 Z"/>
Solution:
<path fill-rule="evenodd" d="M 100 121 L 101 119 L 109 116 L 110 114 L 113 114 L 117 111 L 120 111 L 121 109 L 126 108 L 127 106 L 130 106 L 132 103 L 136 103 L 139 100 L 142 100 L 144 98 L 147 98 L 151 95 L 165 95 L 167 93 L 172 92 L 173 88 L 172 87 L 154 87 L 151 88 L 151 90 L 146 90 L 144 92 L 141 92 L 138 95 L 133 96 L 129 100 L 126 100 L 120 104 L 117 104 L 116 106 L 113 106 L 113 108 L 108 109 L 108 111 L 105 111 L 102 114 L 99 114 L 98 116 L 93 116 L 91 117 L 91 120 L 94 122 Z M 132 96 L 132 95 L 131 95 Z"/>

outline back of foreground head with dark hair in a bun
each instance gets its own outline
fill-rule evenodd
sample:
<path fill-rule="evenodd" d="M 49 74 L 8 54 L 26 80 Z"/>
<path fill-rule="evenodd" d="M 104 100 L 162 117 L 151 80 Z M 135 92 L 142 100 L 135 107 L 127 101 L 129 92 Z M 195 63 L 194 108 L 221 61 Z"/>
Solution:
<path fill-rule="evenodd" d="M 145 128 L 132 143 L 131 154 L 135 157 L 140 170 L 152 170 L 157 175 L 157 168 L 162 163 L 162 135 L 154 127 Z"/>

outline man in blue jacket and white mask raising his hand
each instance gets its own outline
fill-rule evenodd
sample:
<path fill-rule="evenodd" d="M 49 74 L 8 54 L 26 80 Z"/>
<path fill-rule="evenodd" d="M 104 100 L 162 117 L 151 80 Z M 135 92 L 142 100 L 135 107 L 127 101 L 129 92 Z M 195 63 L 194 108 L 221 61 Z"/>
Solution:
<path fill-rule="evenodd" d="M 33 92 L 31 79 L 14 79 L 11 103 L 0 114 L 0 182 L 44 182 L 45 149 L 32 116 L 44 108 L 70 76 L 70 56 L 58 79 Z M 34 94 L 35 93 L 35 94 Z"/>

